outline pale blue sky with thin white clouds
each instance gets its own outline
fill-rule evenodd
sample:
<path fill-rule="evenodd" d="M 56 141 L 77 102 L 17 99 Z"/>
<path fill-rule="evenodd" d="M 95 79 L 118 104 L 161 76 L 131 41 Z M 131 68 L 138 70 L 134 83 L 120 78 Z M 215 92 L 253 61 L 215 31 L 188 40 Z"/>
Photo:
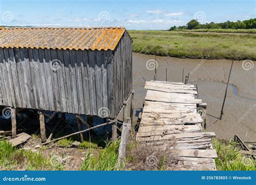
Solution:
<path fill-rule="evenodd" d="M 125 26 L 162 30 L 255 18 L 255 0 L 0 0 L 0 24 L 12 26 Z"/>

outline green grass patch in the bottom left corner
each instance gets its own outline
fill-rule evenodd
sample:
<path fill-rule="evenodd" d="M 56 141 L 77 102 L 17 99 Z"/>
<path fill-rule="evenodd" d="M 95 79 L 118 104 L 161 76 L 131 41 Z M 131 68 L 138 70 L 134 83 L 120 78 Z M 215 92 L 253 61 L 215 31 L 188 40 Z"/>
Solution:
<path fill-rule="evenodd" d="M 0 141 L 0 169 L 4 170 L 62 170 L 63 166 L 48 159 L 41 152 L 12 147 L 5 139 Z"/>

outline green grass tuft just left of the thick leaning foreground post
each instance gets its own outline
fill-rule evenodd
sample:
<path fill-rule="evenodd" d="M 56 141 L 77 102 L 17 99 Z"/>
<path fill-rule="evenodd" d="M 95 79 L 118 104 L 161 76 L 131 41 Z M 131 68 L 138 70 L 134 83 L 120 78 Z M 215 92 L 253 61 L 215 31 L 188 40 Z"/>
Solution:
<path fill-rule="evenodd" d="M 91 156 L 88 151 L 82 164 L 82 170 L 117 170 L 119 141 L 107 144 L 106 148 L 99 150 L 98 156 Z M 123 168 L 123 165 L 122 165 Z"/>

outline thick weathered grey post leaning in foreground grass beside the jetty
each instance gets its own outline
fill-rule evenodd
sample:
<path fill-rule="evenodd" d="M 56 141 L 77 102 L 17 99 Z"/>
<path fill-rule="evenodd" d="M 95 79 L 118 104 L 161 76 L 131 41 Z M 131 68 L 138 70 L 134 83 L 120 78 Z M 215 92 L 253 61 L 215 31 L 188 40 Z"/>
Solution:
<path fill-rule="evenodd" d="M 129 118 L 129 121 L 130 121 L 130 118 Z M 117 159 L 118 169 L 120 169 L 120 167 L 122 166 L 124 157 L 126 155 L 126 148 L 127 148 L 127 145 L 129 142 L 129 136 L 130 136 L 130 128 L 131 128 L 131 124 L 124 122 L 120 146 L 118 149 L 118 159 Z"/>

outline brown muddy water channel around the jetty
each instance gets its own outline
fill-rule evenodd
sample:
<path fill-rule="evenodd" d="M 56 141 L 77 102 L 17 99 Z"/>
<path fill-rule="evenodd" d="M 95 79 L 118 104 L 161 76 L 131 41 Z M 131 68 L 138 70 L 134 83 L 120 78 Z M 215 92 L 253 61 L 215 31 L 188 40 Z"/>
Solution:
<path fill-rule="evenodd" d="M 154 56 L 133 53 L 133 90 L 134 105 L 142 107 L 146 90 L 145 80 L 152 80 L 154 70 L 146 67 L 146 62 Z M 246 142 L 256 141 L 256 63 L 251 70 L 242 68 L 242 61 L 234 61 L 227 89 L 227 98 L 222 120 L 218 120 L 224 99 L 230 60 L 179 59 L 157 57 L 157 80 L 165 80 L 167 68 L 168 81 L 182 81 L 185 74 L 190 73 L 189 83 L 198 83 L 199 99 L 207 103 L 207 131 L 215 132 L 217 138 L 228 140 L 238 134 Z M 144 78 L 144 79 L 143 79 Z M 185 77 L 184 77 L 185 78 Z"/>

